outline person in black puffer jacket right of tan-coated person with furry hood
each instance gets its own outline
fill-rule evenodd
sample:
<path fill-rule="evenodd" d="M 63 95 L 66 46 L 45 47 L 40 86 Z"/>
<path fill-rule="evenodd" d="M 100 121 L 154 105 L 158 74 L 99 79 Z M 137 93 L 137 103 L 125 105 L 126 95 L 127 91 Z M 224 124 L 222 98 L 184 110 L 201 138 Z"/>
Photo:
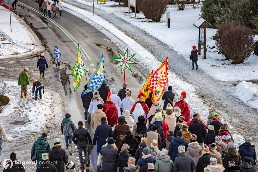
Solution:
<path fill-rule="evenodd" d="M 197 136 L 197 142 L 203 148 L 204 138 L 206 136 L 206 128 L 203 123 L 199 122 L 198 114 L 193 114 L 193 123 L 189 126 L 188 131 Z"/>

